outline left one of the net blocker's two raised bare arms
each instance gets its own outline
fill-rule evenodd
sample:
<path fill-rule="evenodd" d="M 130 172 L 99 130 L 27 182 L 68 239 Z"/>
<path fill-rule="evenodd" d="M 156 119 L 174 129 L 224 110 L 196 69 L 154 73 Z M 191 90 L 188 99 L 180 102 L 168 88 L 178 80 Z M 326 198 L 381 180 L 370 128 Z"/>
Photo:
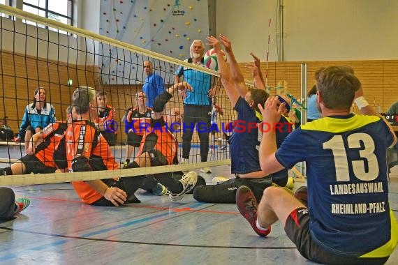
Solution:
<path fill-rule="evenodd" d="M 212 45 L 214 47 L 214 52 L 216 52 L 217 61 L 219 63 L 221 83 L 223 83 L 228 98 L 230 98 L 233 107 L 235 107 L 237 100 L 239 99 L 239 93 L 235 89 L 235 84 L 231 77 L 230 68 L 228 68 L 227 63 L 226 61 L 224 61 L 223 55 L 221 54 L 221 43 L 213 36 L 207 37 L 207 41 L 209 45 Z"/>

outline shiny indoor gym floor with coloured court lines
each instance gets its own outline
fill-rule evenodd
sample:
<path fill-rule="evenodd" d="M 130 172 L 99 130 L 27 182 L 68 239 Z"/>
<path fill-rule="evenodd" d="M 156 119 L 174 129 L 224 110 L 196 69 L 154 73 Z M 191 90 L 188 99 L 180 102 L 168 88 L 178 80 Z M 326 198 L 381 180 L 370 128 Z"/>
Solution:
<path fill-rule="evenodd" d="M 8 158 L 4 147 L 0 157 Z M 20 154 L 19 146 L 10 150 L 12 158 Z M 231 176 L 228 166 L 201 175 L 207 183 Z M 200 203 L 192 195 L 171 202 L 138 190 L 141 204 L 106 208 L 82 204 L 69 183 L 13 190 L 31 205 L 0 223 L 0 264 L 314 264 L 297 252 L 280 222 L 260 238 L 235 204 Z M 397 166 L 390 203 L 398 218 Z M 397 259 L 396 249 L 387 264 Z"/>

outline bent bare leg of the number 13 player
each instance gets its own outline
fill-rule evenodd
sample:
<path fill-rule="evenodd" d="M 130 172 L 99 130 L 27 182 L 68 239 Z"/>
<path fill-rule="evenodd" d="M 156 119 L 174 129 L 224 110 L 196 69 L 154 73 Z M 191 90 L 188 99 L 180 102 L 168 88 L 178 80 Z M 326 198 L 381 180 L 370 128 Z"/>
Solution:
<path fill-rule="evenodd" d="M 269 227 L 279 219 L 284 227 L 290 213 L 300 207 L 305 206 L 283 188 L 266 188 L 258 205 L 258 223 L 261 227 Z"/>

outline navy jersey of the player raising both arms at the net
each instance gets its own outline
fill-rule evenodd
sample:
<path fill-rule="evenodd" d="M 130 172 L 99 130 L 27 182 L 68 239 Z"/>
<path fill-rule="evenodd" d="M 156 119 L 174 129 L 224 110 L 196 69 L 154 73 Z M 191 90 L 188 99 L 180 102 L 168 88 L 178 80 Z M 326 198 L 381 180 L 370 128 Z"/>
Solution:
<path fill-rule="evenodd" d="M 261 171 L 258 148 L 263 133 L 258 129 L 258 124 L 263 118 L 259 113 L 256 114 L 256 111 L 242 97 L 239 97 L 234 109 L 237 111 L 237 121 L 230 137 L 231 172 L 247 174 Z M 277 130 L 277 146 L 283 142 L 290 131 L 286 119 L 282 117 L 281 121 L 283 126 L 281 131 Z M 272 179 L 281 179 L 287 175 L 288 169 L 283 169 L 281 172 L 272 174 Z"/>

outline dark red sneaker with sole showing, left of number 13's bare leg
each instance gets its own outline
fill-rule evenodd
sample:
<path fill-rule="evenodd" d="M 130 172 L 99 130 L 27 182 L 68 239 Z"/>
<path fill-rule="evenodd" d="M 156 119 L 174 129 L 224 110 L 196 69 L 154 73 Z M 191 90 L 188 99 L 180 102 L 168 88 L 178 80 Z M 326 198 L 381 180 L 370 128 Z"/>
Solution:
<path fill-rule="evenodd" d="M 249 222 L 251 228 L 259 236 L 267 236 L 271 232 L 271 227 L 259 229 L 256 225 L 258 202 L 253 192 L 245 185 L 240 186 L 236 191 L 236 205 L 239 212 Z"/>

